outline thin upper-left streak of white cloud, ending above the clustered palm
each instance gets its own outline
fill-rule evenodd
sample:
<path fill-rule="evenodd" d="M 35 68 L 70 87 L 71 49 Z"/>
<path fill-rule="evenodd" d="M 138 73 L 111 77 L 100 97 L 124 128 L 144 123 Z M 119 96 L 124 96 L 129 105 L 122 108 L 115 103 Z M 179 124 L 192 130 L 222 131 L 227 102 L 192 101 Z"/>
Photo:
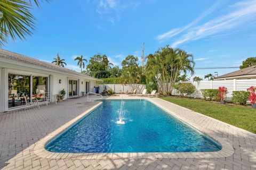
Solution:
<path fill-rule="evenodd" d="M 199 21 L 203 20 L 207 15 L 211 14 L 218 7 L 219 2 L 220 1 L 218 1 L 217 3 L 212 5 L 208 10 L 203 12 L 201 15 L 199 15 L 194 21 L 192 21 L 188 25 L 185 25 L 184 27 L 181 27 L 181 28 L 175 28 L 175 29 L 172 29 L 168 32 L 165 32 L 162 35 L 157 36 L 156 39 L 159 40 L 159 41 L 170 39 L 171 37 L 173 37 L 175 35 L 178 35 L 179 33 L 187 30 L 188 28 L 192 27 L 193 25 L 195 25 Z"/>

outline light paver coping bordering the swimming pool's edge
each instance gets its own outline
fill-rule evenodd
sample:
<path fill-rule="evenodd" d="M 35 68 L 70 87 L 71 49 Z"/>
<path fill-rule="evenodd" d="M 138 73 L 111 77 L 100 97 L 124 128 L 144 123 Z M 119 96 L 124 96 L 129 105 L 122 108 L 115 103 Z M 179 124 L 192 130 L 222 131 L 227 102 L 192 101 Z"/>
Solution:
<path fill-rule="evenodd" d="M 108 100 L 108 99 L 114 100 L 114 99 L 121 99 L 121 98 L 111 98 L 110 97 L 110 98 L 107 98 L 106 100 Z M 129 98 L 127 98 L 127 99 L 129 99 Z M 178 114 L 171 112 L 169 109 L 165 108 L 161 104 L 156 103 L 154 100 L 151 100 L 151 98 L 135 97 L 135 98 L 130 98 L 130 99 L 146 99 L 146 100 L 150 101 L 151 103 L 164 109 L 167 113 L 169 113 L 169 114 L 177 117 L 179 120 L 189 124 L 192 128 L 195 128 L 199 132 L 209 135 L 209 137 L 213 138 L 214 140 L 216 140 L 220 143 L 222 149 L 219 151 L 214 151 L 214 152 L 118 152 L 118 153 L 63 153 L 63 152 L 50 152 L 45 149 L 45 146 L 47 145 L 47 143 L 49 141 L 51 141 L 52 139 L 57 137 L 63 131 L 67 130 L 70 126 L 72 126 L 74 123 L 79 121 L 86 114 L 89 114 L 94 109 L 99 107 L 102 104 L 102 102 L 98 101 L 97 104 L 95 104 L 93 107 L 91 107 L 87 111 L 83 112 L 82 114 L 73 118 L 73 120 L 60 126 L 60 128 L 58 128 L 57 130 L 54 130 L 53 132 L 46 135 L 44 138 L 37 141 L 35 143 L 35 147 L 33 149 L 35 155 L 37 155 L 41 158 L 47 158 L 47 159 L 107 159 L 107 158 L 110 158 L 110 159 L 122 159 L 122 158 L 154 159 L 154 158 L 225 158 L 225 157 L 229 157 L 234 154 L 234 148 L 225 139 L 218 137 L 218 135 L 215 135 L 215 133 L 211 130 L 206 130 L 196 124 L 191 124 L 189 121 L 185 120 Z M 159 99 L 159 100 L 162 100 L 162 99 Z M 165 100 L 162 100 L 162 101 L 165 101 Z M 166 103 L 167 102 L 168 101 L 166 101 Z M 181 107 L 181 106 L 179 106 L 179 107 Z M 194 111 L 192 111 L 192 112 L 194 112 Z"/>

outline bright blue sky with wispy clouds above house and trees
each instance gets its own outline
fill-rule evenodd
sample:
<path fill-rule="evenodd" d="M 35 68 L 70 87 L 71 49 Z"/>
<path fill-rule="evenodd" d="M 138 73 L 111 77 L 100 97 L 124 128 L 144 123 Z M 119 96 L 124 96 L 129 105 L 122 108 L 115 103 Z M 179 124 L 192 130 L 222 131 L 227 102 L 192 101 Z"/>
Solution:
<path fill-rule="evenodd" d="M 255 0 L 52 0 L 33 14 L 34 35 L 3 48 L 48 62 L 59 53 L 77 71 L 74 56 L 89 60 L 101 53 L 120 65 L 127 55 L 140 58 L 143 42 L 145 55 L 166 45 L 185 49 L 194 55 L 195 67 L 239 66 L 256 56 Z M 234 70 L 196 70 L 195 75 Z"/>

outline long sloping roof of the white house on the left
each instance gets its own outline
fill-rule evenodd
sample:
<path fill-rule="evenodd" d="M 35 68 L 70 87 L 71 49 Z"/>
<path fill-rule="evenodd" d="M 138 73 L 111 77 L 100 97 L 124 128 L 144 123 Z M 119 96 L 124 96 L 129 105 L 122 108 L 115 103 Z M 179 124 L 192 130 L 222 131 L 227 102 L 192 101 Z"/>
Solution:
<path fill-rule="evenodd" d="M 79 76 L 79 77 L 84 77 L 84 78 L 91 79 L 91 80 L 102 81 L 100 79 L 90 77 L 88 75 L 78 73 L 73 70 L 66 69 L 65 67 L 60 67 L 60 66 L 57 66 L 52 63 L 40 61 L 35 58 L 27 57 L 25 55 L 21 55 L 18 53 L 13 53 L 13 52 L 10 52 L 10 51 L 4 50 L 4 49 L 0 49 L 0 59 L 1 58 L 5 59 L 5 60 L 12 60 L 12 61 L 24 63 L 24 64 L 30 64 L 33 66 L 36 65 L 36 66 L 42 67 L 43 69 L 47 69 L 47 70 L 53 70 L 53 71 L 58 71 L 61 73 L 67 73 L 67 74 L 71 74 L 71 75 L 75 75 L 75 76 Z"/>

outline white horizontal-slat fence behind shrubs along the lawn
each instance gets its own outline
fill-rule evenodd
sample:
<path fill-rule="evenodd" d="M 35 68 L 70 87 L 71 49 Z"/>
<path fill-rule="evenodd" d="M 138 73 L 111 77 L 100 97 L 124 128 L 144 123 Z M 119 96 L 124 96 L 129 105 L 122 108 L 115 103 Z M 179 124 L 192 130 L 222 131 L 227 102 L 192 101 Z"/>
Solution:
<path fill-rule="evenodd" d="M 196 91 L 190 97 L 203 98 L 201 89 L 218 89 L 225 86 L 228 89 L 227 100 L 231 100 L 233 91 L 246 91 L 251 86 L 256 86 L 256 79 L 246 80 L 214 80 L 214 81 L 198 81 L 190 82 L 195 85 Z M 179 95 L 177 90 L 173 89 L 172 95 Z"/>

